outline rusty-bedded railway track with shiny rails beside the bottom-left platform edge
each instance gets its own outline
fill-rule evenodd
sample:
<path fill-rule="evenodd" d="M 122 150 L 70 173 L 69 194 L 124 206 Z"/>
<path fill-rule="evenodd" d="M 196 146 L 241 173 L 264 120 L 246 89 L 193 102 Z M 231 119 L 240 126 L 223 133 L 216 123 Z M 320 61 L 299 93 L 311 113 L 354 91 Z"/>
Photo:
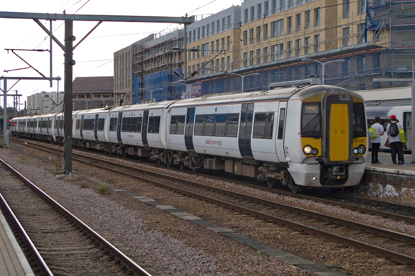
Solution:
<path fill-rule="evenodd" d="M 0 171 L 16 178 L 0 184 L 1 209 L 20 230 L 23 246 L 30 248 L 34 271 L 42 275 L 150 275 L 1 159 Z"/>

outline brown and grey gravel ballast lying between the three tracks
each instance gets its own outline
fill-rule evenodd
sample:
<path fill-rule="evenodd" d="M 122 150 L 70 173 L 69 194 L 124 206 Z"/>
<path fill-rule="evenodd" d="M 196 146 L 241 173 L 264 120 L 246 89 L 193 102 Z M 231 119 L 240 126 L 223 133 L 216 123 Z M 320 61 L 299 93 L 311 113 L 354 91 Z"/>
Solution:
<path fill-rule="evenodd" d="M 48 158 L 41 152 L 36 154 Z M 106 196 L 99 195 L 96 184 L 89 181 L 80 180 L 72 183 L 57 181 L 49 173 L 53 170 L 53 166 L 40 164 L 39 160 L 16 154 L 16 151 L 11 149 L 0 150 L 0 158 L 29 175 L 28 178 L 32 181 L 43 182 L 42 188 L 47 193 L 62 202 L 81 219 L 87 220 L 98 233 L 104 233 L 104 237 L 112 237 L 108 239 L 110 242 L 116 243 L 122 251 L 153 275 L 314 275 L 276 258 L 260 255 L 247 246 L 168 215 L 157 208 L 148 207 L 135 199 L 115 192 Z M 140 165 L 140 167 L 149 166 Z M 76 164 L 73 169 L 172 205 L 317 264 L 332 266 L 344 274 L 393 276 L 414 273 L 411 268 L 398 266 L 373 254 L 178 196 L 164 189 L 151 187 L 149 184 L 138 183 L 137 180 L 103 173 L 100 170 L 90 170 L 84 165 Z M 166 171 L 166 169 L 157 169 L 159 170 Z M 185 177 L 181 172 L 174 174 Z M 192 177 L 195 176 L 186 176 L 186 178 Z M 227 181 L 211 180 L 205 177 L 196 178 L 194 180 L 219 187 L 232 187 L 240 192 L 290 205 L 295 204 L 325 213 L 341 214 L 342 217 L 362 222 L 371 220 L 379 227 L 412 233 L 411 235 L 415 231 L 413 225 L 406 223 L 235 186 Z"/>

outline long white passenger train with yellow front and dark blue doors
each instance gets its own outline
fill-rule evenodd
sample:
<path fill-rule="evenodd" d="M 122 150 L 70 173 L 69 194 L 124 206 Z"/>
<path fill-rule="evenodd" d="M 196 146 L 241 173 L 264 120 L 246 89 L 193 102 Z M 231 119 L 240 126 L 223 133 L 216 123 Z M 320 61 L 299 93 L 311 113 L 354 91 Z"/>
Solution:
<path fill-rule="evenodd" d="M 63 116 L 13 118 L 11 134 L 63 142 Z M 72 137 L 78 148 L 222 170 L 293 192 L 358 185 L 368 143 L 363 98 L 330 85 L 73 111 Z"/>

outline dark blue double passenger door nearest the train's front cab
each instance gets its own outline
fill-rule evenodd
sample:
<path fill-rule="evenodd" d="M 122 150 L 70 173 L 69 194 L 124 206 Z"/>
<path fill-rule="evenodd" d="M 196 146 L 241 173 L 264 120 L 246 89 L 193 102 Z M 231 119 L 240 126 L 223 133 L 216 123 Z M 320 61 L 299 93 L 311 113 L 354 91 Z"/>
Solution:
<path fill-rule="evenodd" d="M 239 151 L 242 157 L 253 157 L 251 149 L 251 129 L 253 117 L 253 103 L 242 104 L 241 124 L 239 127 Z"/>

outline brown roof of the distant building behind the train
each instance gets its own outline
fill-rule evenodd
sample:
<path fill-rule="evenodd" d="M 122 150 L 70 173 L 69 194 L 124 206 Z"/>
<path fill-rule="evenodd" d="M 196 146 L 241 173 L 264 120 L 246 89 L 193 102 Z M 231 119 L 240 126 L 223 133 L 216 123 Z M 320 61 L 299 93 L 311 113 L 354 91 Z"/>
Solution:
<path fill-rule="evenodd" d="M 100 77 L 76 77 L 72 82 L 73 93 L 113 93 L 114 92 L 114 77 L 100 76 Z"/>

